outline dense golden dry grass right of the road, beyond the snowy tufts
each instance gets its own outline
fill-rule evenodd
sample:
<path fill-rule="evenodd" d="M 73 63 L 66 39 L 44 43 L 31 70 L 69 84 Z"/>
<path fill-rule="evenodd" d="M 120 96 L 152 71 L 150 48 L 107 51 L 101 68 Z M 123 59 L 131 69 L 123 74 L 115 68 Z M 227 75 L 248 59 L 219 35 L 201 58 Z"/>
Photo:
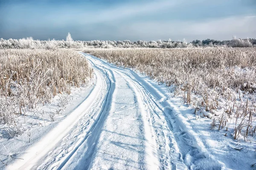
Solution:
<path fill-rule="evenodd" d="M 84 52 L 116 65 L 136 68 L 166 85 L 247 90 L 256 83 L 256 48 L 87 49 Z M 243 70 L 244 69 L 244 70 Z M 243 87 L 241 87 L 243 88 Z"/>

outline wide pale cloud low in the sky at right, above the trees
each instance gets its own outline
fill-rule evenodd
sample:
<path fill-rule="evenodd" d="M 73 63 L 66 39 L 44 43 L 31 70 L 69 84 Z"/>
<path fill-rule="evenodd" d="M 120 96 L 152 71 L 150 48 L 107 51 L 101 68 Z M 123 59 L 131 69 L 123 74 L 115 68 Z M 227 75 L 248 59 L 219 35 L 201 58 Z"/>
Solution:
<path fill-rule="evenodd" d="M 119 34 L 143 40 L 186 38 L 229 40 L 237 37 L 255 37 L 256 16 L 227 17 L 206 21 L 149 21 L 122 25 Z M 138 39 L 137 38 L 137 39 Z"/>

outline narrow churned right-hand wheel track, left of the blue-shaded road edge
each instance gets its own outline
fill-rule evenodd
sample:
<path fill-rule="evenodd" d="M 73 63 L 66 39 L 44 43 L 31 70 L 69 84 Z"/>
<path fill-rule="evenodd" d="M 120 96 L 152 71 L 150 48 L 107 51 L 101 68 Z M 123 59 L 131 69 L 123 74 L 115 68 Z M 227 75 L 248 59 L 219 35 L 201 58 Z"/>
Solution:
<path fill-rule="evenodd" d="M 129 70 L 128 70 L 129 71 Z M 159 145 L 158 153 L 161 162 L 161 169 L 188 169 L 187 164 L 183 161 L 179 141 L 176 139 L 172 124 L 163 109 L 152 98 L 151 93 L 139 82 L 135 77 L 131 77 L 128 73 L 123 72 L 130 81 L 134 82 L 137 89 L 144 95 L 144 100 L 151 110 L 152 127 L 154 127 L 156 140 Z M 162 99 L 162 98 L 161 98 Z"/>

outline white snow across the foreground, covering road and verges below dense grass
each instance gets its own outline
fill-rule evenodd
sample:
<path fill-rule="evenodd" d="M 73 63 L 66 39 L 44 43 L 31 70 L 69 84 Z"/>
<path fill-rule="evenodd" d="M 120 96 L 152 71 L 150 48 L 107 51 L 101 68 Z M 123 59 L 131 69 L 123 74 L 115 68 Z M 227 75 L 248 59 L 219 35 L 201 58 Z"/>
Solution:
<path fill-rule="evenodd" d="M 138 68 L 134 71 L 134 66 L 80 54 L 93 68 L 93 78 L 86 87 L 71 88 L 64 107 L 58 104 L 63 100 L 58 94 L 50 104 L 38 106 L 38 117 L 33 110 L 27 112 L 26 131 L 12 138 L 1 124 L 0 168 L 254 169 L 253 81 L 230 94 L 225 89 L 230 99 L 216 99 L 211 89 L 204 96 L 180 86 L 178 93 L 175 86 L 167 87 Z M 236 70 L 240 76 L 241 71 L 256 74 L 252 67 Z M 195 104 L 202 100 L 204 105 Z M 218 101 L 217 108 L 212 101 Z M 41 114 L 60 109 L 54 121 L 50 114 Z M 20 122 L 24 118 L 18 117 Z"/>

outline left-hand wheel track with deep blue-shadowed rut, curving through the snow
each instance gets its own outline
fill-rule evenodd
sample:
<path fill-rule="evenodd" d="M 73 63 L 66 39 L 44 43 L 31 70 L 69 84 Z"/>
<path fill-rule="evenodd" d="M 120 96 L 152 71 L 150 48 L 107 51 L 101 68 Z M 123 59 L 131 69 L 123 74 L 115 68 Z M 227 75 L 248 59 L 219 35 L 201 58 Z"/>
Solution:
<path fill-rule="evenodd" d="M 93 105 L 93 107 L 89 111 L 89 115 L 92 116 L 84 115 L 84 117 L 79 120 L 79 124 L 76 126 L 76 128 L 70 131 L 70 134 L 68 134 L 63 139 L 63 141 L 59 143 L 61 147 L 57 147 L 55 149 L 56 151 L 50 152 L 49 155 L 46 156 L 46 160 L 37 169 L 61 170 L 70 169 L 70 167 L 76 167 L 78 169 L 88 169 L 88 167 L 90 166 L 90 160 L 93 159 L 93 154 L 95 152 L 95 147 L 99 139 L 99 134 L 102 125 L 106 117 L 108 116 L 108 108 L 110 107 L 113 90 L 115 89 L 115 79 L 113 77 L 113 74 L 109 71 L 106 71 L 102 67 L 94 65 L 92 62 L 90 62 L 90 64 L 94 68 L 96 68 L 96 72 L 98 73 L 97 77 L 102 80 L 105 79 L 105 83 L 108 88 L 103 91 L 101 90 L 101 88 L 99 88 L 99 91 L 102 92 L 100 95 L 102 97 L 99 97 L 99 100 L 96 102 L 95 105 Z M 86 116 L 90 119 L 87 120 Z M 78 141 L 76 140 L 76 143 L 70 142 L 69 144 L 65 144 L 65 141 L 72 140 L 73 137 L 76 137 L 73 135 L 73 133 L 76 133 L 76 129 L 79 129 L 81 127 L 85 128 L 79 130 L 79 132 L 82 133 L 77 135 L 80 139 Z M 81 150 L 81 148 L 83 152 L 79 152 L 79 149 Z M 61 152 L 58 152 L 59 150 L 61 150 Z M 59 158 L 56 159 L 56 157 Z M 77 159 L 78 157 L 82 157 L 84 163 L 79 163 L 80 159 Z"/>

